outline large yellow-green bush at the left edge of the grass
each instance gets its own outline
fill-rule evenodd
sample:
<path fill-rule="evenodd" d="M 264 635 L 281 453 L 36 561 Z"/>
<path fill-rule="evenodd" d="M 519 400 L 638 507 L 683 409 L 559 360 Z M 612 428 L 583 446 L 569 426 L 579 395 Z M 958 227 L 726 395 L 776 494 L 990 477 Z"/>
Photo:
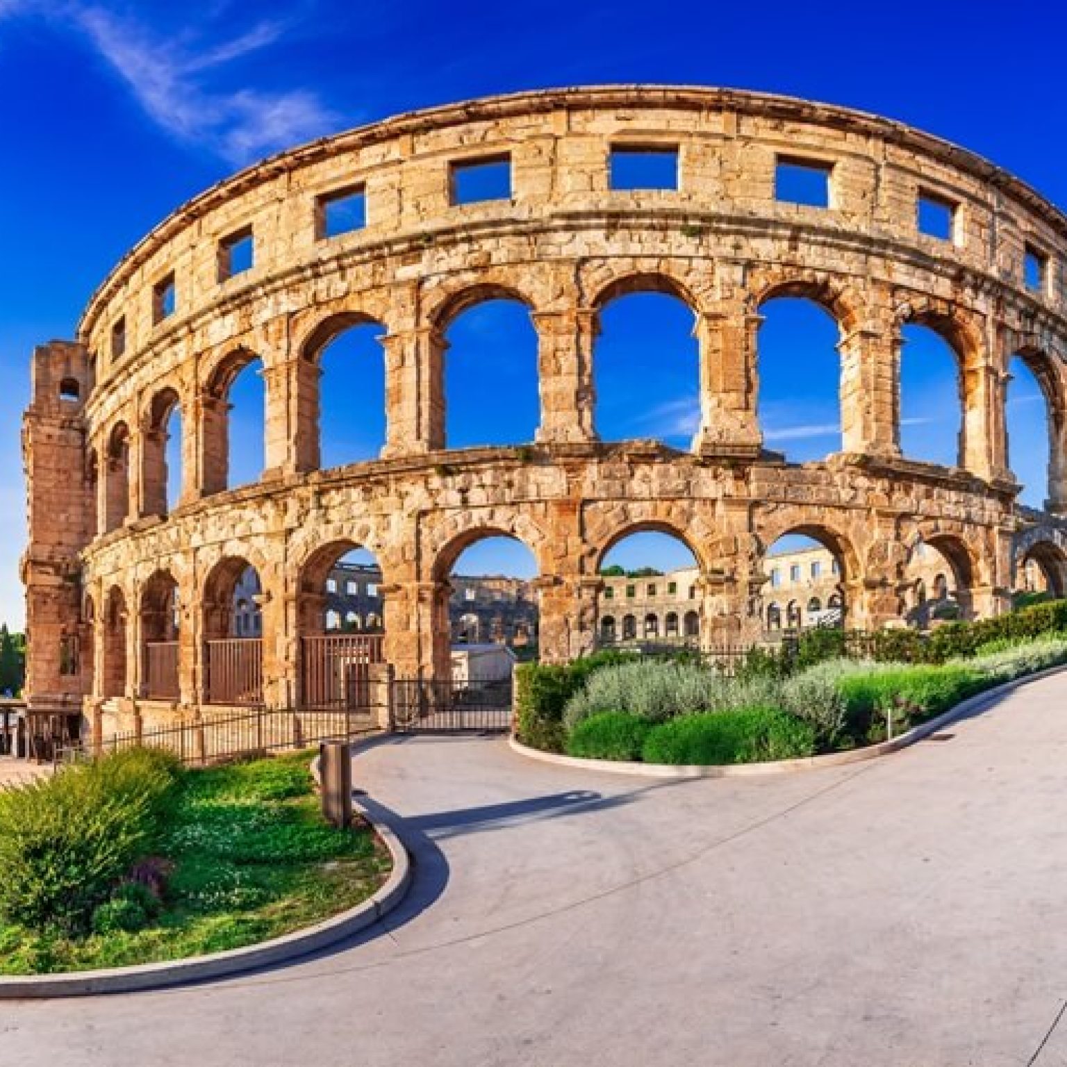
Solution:
<path fill-rule="evenodd" d="M 170 758 L 136 751 L 0 791 L 0 915 L 34 928 L 84 929 L 157 844 L 176 782 Z"/>

